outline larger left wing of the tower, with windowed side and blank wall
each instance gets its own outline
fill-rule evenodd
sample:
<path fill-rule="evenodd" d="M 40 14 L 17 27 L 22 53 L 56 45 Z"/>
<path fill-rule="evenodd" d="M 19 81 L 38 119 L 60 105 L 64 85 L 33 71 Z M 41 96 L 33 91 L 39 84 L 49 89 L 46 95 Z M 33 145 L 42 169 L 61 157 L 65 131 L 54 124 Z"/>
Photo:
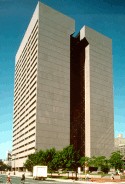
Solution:
<path fill-rule="evenodd" d="M 16 54 L 13 168 L 35 150 L 70 144 L 70 35 L 74 20 L 38 3 Z"/>

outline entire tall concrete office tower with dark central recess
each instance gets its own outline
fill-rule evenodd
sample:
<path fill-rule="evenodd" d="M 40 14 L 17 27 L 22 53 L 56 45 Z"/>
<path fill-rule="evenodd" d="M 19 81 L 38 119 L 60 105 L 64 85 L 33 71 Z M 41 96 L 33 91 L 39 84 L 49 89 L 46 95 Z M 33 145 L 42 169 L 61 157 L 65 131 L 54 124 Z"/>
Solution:
<path fill-rule="evenodd" d="M 16 54 L 12 167 L 35 150 L 113 148 L 111 40 L 38 3 Z"/>

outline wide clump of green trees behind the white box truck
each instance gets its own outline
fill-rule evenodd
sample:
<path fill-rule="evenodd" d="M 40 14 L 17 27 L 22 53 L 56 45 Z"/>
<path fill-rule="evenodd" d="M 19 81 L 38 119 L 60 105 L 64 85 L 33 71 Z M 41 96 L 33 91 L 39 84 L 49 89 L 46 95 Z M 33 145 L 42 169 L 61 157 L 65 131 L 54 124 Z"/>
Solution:
<path fill-rule="evenodd" d="M 28 156 L 24 166 L 29 171 L 32 171 L 35 165 L 47 165 L 50 172 L 57 171 L 58 169 L 76 170 L 80 166 L 79 159 L 79 153 L 70 145 L 61 151 L 51 148 L 31 154 Z"/>

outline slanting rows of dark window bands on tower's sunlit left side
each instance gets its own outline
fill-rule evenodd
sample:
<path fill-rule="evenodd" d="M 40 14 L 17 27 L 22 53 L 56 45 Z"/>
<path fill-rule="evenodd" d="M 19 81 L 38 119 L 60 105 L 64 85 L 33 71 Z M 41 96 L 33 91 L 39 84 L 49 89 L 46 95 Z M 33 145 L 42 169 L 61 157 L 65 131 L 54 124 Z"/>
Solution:
<path fill-rule="evenodd" d="M 36 116 L 37 54 L 38 21 L 36 22 L 31 35 L 16 63 L 14 87 L 13 151 L 16 151 L 23 146 L 30 145 L 32 142 L 34 142 L 28 142 L 28 139 L 30 139 L 32 136 L 35 136 L 33 130 L 35 130 Z M 28 121 L 31 122 L 28 124 Z M 31 135 L 30 132 L 32 132 Z M 24 141 L 26 140 L 27 143 L 25 144 Z M 23 142 L 24 145 L 21 145 Z M 19 154 L 21 154 L 21 152 Z"/>

